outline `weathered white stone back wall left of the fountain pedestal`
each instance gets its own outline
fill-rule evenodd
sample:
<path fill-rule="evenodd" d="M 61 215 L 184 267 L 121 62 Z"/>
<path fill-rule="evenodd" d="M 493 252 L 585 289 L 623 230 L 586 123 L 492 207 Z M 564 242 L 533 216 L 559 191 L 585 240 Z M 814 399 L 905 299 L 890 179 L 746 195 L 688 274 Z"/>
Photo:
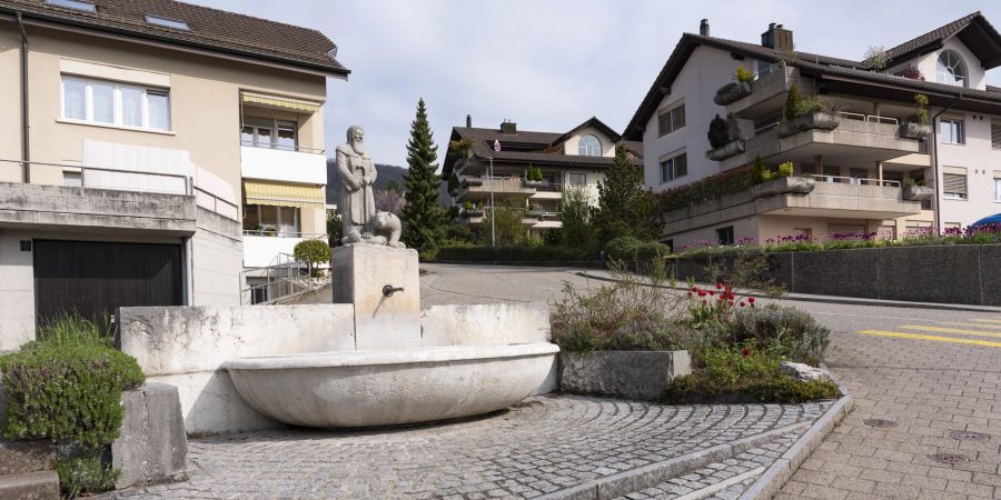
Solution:
<path fill-rule="evenodd" d="M 194 373 L 234 358 L 353 350 L 353 316 L 350 304 L 120 308 L 118 336 L 147 376 Z"/>

